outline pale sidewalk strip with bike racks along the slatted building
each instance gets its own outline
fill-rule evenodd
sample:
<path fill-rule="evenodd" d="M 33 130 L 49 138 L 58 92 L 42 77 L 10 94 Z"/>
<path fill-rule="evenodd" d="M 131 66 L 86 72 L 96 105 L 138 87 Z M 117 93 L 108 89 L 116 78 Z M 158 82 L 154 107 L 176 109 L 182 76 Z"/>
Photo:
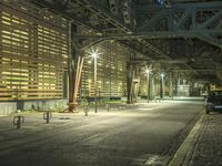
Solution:
<path fill-rule="evenodd" d="M 70 123 L 80 124 L 85 120 L 95 118 L 98 116 L 110 116 L 117 113 L 121 113 L 124 111 L 130 111 L 131 108 L 137 107 L 137 105 L 112 105 L 109 110 L 105 105 L 98 105 L 97 113 L 93 106 L 90 106 L 88 112 L 85 113 L 83 107 L 79 107 L 77 113 L 59 113 L 51 112 L 51 116 L 49 118 L 50 125 L 46 125 L 47 121 L 43 118 L 43 114 L 46 111 L 37 112 L 37 111 L 26 111 L 13 113 L 7 116 L 0 116 L 0 133 L 6 133 L 8 131 L 18 132 L 17 125 L 13 124 L 13 120 L 17 116 L 23 116 L 24 121 L 21 123 L 21 128 L 28 129 L 28 132 L 34 131 L 43 131 L 46 128 L 53 128 L 54 126 L 62 126 Z M 74 121 L 73 121 L 74 120 Z M 69 122 L 69 123 L 67 123 Z M 1 135 L 0 135 L 1 141 Z"/>

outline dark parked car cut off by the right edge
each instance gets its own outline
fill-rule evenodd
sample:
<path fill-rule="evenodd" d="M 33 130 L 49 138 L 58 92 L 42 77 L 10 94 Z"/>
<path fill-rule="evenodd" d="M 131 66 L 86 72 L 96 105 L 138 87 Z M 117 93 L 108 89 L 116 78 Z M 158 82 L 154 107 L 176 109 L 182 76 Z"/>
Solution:
<path fill-rule="evenodd" d="M 222 112 L 222 91 L 211 91 L 205 100 L 205 113 Z"/>

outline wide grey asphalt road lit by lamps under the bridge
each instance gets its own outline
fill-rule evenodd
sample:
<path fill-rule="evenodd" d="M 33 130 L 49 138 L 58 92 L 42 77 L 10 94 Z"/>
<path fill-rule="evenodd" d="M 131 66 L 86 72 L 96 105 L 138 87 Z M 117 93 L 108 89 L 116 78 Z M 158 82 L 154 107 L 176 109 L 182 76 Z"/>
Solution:
<path fill-rule="evenodd" d="M 53 114 L 50 124 L 34 113 L 20 129 L 1 117 L 0 166 L 167 165 L 200 112 L 203 101 Z"/>

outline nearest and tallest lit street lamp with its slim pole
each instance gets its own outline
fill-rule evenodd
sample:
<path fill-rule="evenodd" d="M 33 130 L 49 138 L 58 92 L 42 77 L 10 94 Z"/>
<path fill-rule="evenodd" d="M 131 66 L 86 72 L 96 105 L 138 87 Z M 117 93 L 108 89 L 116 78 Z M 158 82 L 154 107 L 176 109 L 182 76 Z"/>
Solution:
<path fill-rule="evenodd" d="M 90 55 L 94 59 L 94 112 L 98 112 L 98 98 L 97 98 L 97 91 L 98 91 L 98 86 L 97 86 L 97 59 L 99 56 L 98 50 L 92 50 L 90 52 Z"/>

